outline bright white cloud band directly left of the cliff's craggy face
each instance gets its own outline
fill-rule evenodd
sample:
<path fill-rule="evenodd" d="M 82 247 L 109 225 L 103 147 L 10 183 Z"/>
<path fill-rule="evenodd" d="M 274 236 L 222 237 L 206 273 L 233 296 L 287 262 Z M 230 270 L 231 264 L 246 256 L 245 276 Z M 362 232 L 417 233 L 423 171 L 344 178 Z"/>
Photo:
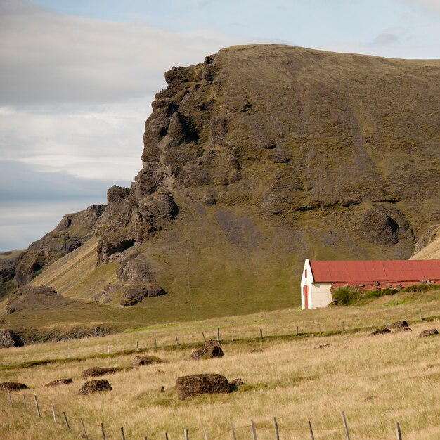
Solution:
<path fill-rule="evenodd" d="M 141 169 L 150 97 L 117 104 L 0 108 L 0 157 L 39 171 L 131 181 Z"/>

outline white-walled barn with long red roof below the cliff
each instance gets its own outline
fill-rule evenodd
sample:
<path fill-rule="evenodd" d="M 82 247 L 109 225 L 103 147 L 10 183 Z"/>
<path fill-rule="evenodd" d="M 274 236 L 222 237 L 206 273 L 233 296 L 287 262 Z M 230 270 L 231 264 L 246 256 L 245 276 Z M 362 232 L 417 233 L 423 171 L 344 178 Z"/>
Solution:
<path fill-rule="evenodd" d="M 332 287 L 360 289 L 406 287 L 440 282 L 440 260 L 318 261 L 306 259 L 301 278 L 301 307 L 316 309 L 332 302 Z"/>

